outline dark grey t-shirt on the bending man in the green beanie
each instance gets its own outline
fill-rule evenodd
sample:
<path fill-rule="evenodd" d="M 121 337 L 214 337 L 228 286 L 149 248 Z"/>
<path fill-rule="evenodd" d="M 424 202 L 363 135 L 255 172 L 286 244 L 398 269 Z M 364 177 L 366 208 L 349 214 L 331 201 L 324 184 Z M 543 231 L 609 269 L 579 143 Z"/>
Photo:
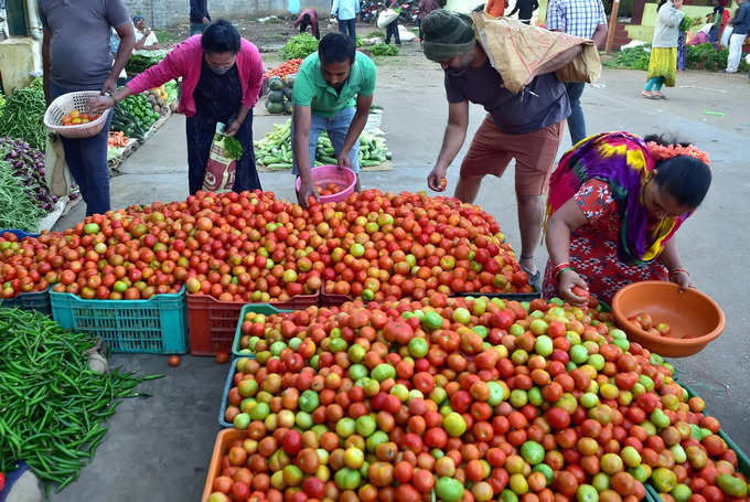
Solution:
<path fill-rule="evenodd" d="M 446 72 L 446 93 L 448 103 L 469 100 L 482 105 L 506 135 L 526 135 L 570 115 L 568 93 L 554 73 L 539 75 L 524 90 L 513 94 L 503 86 L 503 78 L 489 60 L 460 76 Z"/>

